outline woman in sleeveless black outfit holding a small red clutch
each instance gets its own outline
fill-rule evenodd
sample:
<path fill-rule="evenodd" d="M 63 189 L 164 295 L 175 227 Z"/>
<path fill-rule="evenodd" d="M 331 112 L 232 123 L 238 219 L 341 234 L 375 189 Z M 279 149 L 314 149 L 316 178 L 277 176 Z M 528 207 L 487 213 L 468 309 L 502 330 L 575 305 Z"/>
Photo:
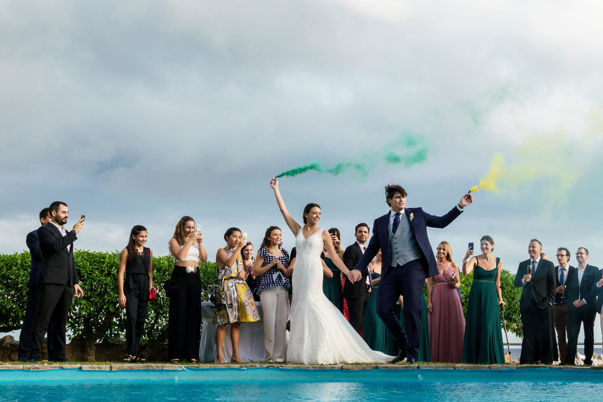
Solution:
<path fill-rule="evenodd" d="M 147 228 L 136 225 L 130 240 L 119 255 L 119 305 L 125 308 L 125 342 L 128 352 L 124 362 L 144 363 L 138 356 L 140 337 L 145 329 L 149 292 L 153 289 L 153 250 L 145 247 Z M 125 273 L 125 282 L 124 282 Z"/>

